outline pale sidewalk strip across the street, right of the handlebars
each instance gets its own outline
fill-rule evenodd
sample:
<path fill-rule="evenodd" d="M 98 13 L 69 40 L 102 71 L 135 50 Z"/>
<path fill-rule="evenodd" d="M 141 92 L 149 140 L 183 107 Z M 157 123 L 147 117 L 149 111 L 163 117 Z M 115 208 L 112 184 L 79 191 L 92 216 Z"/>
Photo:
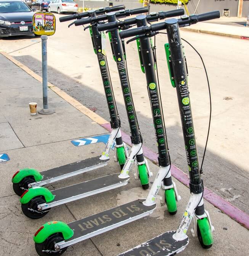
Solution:
<path fill-rule="evenodd" d="M 241 23 L 246 23 L 246 18 L 221 17 L 208 22 L 199 22 L 181 29 L 198 33 L 215 34 L 218 36 L 249 39 L 249 28 L 241 25 Z"/>

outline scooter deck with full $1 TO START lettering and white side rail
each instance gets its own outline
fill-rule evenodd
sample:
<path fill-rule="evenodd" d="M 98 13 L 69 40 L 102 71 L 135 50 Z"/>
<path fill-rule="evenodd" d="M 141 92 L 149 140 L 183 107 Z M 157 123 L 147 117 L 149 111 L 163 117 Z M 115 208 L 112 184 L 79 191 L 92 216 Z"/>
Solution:
<path fill-rule="evenodd" d="M 143 201 L 145 199 L 138 199 L 69 223 L 74 235 L 56 245 L 64 248 L 151 214 L 156 209 L 156 204 L 145 206 Z"/>

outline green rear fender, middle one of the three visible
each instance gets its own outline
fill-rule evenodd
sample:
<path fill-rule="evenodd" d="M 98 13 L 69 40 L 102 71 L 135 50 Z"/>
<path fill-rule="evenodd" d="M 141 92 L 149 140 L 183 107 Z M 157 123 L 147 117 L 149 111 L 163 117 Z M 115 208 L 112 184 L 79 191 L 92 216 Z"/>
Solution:
<path fill-rule="evenodd" d="M 27 204 L 32 198 L 36 196 L 44 196 L 45 201 L 51 202 L 55 199 L 55 196 L 47 189 L 43 187 L 34 187 L 24 192 L 25 194 L 21 197 L 21 204 Z"/>

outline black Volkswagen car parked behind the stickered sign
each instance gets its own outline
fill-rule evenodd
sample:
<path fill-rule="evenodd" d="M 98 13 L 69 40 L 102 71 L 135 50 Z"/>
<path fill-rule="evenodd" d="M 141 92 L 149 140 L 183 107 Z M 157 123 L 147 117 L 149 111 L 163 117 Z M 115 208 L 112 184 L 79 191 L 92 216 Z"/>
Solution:
<path fill-rule="evenodd" d="M 33 15 L 21 0 L 0 0 L 0 37 L 33 34 Z"/>

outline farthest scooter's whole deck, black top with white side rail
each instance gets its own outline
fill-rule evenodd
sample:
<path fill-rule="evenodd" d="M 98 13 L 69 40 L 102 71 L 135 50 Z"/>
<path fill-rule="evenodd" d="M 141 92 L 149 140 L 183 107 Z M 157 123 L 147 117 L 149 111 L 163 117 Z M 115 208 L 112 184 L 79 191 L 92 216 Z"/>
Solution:
<path fill-rule="evenodd" d="M 72 177 L 80 173 L 84 173 L 96 168 L 100 168 L 108 164 L 109 159 L 101 160 L 100 156 L 87 158 L 67 165 L 59 166 L 50 170 L 42 171 L 43 179 L 38 181 L 35 186 L 42 186 L 41 184 L 47 184 L 55 182 L 64 178 Z M 46 182 L 47 181 L 47 182 Z M 33 183 L 31 183 L 32 185 Z"/>

